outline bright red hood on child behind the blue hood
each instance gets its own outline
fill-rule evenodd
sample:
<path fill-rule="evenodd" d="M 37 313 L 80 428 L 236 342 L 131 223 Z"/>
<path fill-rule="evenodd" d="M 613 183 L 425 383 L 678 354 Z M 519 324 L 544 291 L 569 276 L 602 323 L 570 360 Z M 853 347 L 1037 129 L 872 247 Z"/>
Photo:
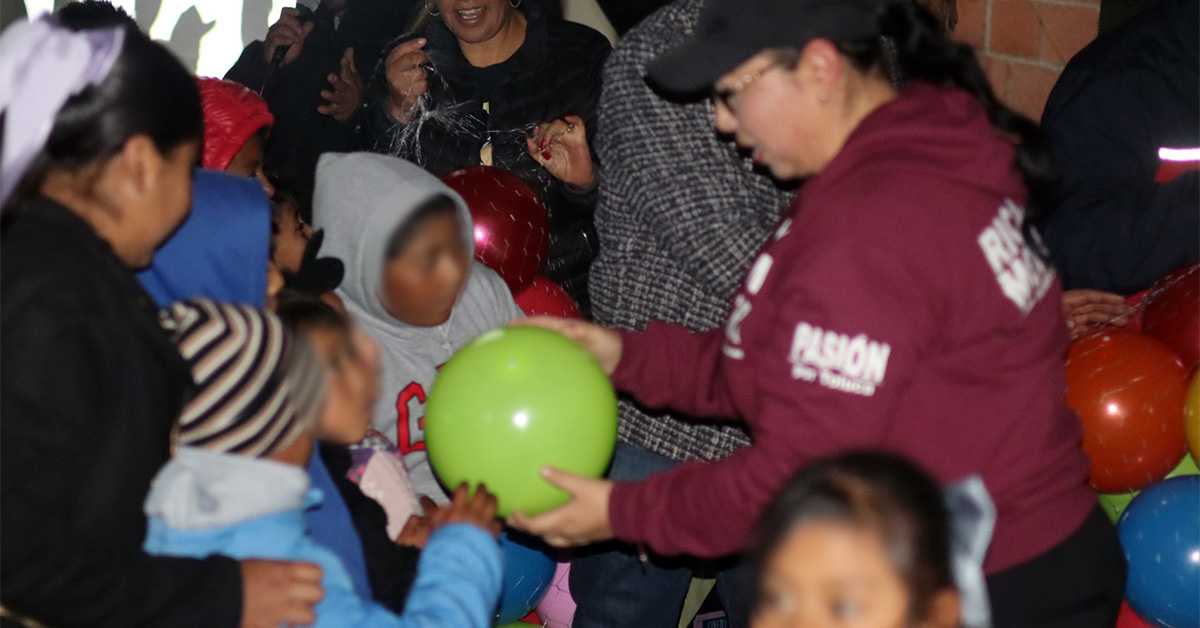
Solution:
<path fill-rule="evenodd" d="M 224 171 L 241 146 L 275 118 L 262 96 L 233 80 L 197 78 L 204 107 L 204 167 Z"/>

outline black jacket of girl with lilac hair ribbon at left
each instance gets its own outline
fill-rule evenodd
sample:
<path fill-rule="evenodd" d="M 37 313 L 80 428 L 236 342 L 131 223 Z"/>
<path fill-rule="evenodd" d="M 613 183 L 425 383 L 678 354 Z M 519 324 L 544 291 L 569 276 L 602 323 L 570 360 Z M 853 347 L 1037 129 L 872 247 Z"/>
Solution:
<path fill-rule="evenodd" d="M 0 239 L 0 602 L 55 627 L 224 627 L 224 557 L 142 551 L 142 504 L 191 385 L 150 298 L 95 232 L 37 198 Z"/>

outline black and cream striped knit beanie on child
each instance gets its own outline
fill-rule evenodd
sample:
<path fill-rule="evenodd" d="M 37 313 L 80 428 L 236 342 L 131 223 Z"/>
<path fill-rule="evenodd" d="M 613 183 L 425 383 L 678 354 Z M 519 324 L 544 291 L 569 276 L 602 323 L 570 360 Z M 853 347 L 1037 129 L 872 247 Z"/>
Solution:
<path fill-rule="evenodd" d="M 163 316 L 196 382 L 178 444 L 265 457 L 314 424 L 325 399 L 324 366 L 274 313 L 196 299 Z"/>

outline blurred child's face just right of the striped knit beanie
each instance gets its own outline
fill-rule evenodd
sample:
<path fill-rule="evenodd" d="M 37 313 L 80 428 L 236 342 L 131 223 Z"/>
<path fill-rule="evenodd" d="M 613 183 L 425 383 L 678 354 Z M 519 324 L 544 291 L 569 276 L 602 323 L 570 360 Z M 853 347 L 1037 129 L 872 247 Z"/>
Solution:
<path fill-rule="evenodd" d="M 329 399 L 317 425 L 322 441 L 354 444 L 367 435 L 371 425 L 372 385 L 368 373 L 358 358 L 354 341 L 346 329 L 318 325 L 308 331 L 329 367 Z"/>

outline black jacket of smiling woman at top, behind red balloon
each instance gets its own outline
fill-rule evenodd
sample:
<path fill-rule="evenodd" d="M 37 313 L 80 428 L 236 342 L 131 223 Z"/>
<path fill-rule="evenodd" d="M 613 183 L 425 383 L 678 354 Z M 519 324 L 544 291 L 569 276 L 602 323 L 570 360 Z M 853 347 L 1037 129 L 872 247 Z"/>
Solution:
<path fill-rule="evenodd" d="M 551 252 L 542 274 L 562 283 L 587 312 L 587 271 L 598 251 L 594 190 L 571 190 L 546 173 L 529 156 L 526 137 L 541 122 L 575 114 L 587 125 L 589 142 L 594 138 L 608 40 L 588 26 L 547 17 L 538 2 L 522 8 L 526 41 L 499 67 L 492 66 L 498 76 L 491 90 L 476 83 L 480 68 L 467 61 L 445 23 L 431 19 L 419 35 L 428 40 L 425 52 L 434 67 L 428 94 L 436 115 L 407 127 L 391 118 L 380 65 L 368 88 L 364 131 L 376 150 L 414 161 L 438 177 L 479 165 L 480 149 L 491 140 L 492 165 L 524 179 L 550 210 Z"/>

